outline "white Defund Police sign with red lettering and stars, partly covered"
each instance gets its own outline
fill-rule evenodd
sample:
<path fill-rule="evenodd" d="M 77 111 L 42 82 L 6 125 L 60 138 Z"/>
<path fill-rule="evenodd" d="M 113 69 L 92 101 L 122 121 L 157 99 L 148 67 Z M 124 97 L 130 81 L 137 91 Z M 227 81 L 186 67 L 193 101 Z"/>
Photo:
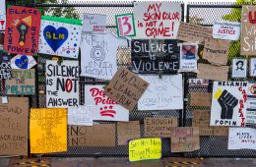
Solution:
<path fill-rule="evenodd" d="M 104 94 L 103 85 L 85 85 L 85 105 L 95 105 L 94 120 L 129 121 L 129 110 Z"/>

